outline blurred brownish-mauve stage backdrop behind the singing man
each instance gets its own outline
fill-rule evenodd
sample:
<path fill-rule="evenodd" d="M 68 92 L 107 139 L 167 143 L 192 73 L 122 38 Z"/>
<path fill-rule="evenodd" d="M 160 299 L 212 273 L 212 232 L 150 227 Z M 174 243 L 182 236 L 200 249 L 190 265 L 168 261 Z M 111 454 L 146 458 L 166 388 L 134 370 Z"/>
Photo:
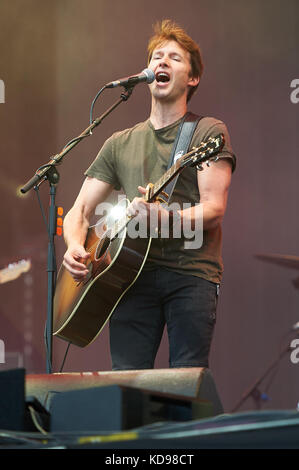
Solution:
<path fill-rule="evenodd" d="M 290 83 L 299 78 L 297 0 L 2 0 L 0 5 L 0 268 L 30 258 L 32 270 L 0 285 L 0 338 L 6 353 L 17 352 L 28 373 L 46 370 L 43 341 L 47 299 L 47 237 L 34 191 L 17 196 L 42 163 L 89 123 L 89 107 L 106 82 L 146 66 L 152 24 L 172 18 L 199 42 L 205 71 L 190 109 L 216 116 L 228 126 L 237 155 L 224 221 L 225 274 L 211 352 L 224 407 L 267 369 L 295 335 L 297 271 L 262 262 L 257 253 L 299 256 L 299 103 Z M 120 94 L 106 91 L 100 115 Z M 121 105 L 64 160 L 57 204 L 71 207 L 83 172 L 112 132 L 148 116 L 146 86 Z M 48 186 L 41 186 L 48 204 Z M 57 262 L 64 243 L 56 239 Z M 67 343 L 54 339 L 58 371 Z M 156 367 L 168 367 L 167 338 Z M 88 348 L 71 347 L 64 371 L 109 370 L 107 328 Z M 1 369 L 0 369 L 1 370 Z M 286 355 L 275 376 L 261 387 L 264 408 L 295 408 L 299 364 Z M 252 399 L 242 409 L 254 409 Z"/>

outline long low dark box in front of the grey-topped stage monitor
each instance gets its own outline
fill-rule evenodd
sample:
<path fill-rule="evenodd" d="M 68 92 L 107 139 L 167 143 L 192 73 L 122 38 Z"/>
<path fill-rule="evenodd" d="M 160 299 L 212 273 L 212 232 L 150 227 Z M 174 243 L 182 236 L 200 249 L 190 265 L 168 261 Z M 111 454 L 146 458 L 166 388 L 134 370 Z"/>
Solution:
<path fill-rule="evenodd" d="M 122 385 L 56 393 L 50 413 L 52 432 L 121 431 L 214 415 L 209 401 Z"/>

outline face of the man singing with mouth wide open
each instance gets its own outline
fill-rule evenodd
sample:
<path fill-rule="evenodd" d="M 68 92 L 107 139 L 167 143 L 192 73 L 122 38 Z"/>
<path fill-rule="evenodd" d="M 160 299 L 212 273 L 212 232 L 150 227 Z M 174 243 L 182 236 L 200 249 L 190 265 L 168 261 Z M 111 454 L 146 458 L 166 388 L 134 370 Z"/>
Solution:
<path fill-rule="evenodd" d="M 198 84 L 198 78 L 191 77 L 190 54 L 176 41 L 166 41 L 152 54 L 149 68 L 156 80 L 149 85 L 152 96 L 163 101 L 186 98 L 189 86 Z"/>

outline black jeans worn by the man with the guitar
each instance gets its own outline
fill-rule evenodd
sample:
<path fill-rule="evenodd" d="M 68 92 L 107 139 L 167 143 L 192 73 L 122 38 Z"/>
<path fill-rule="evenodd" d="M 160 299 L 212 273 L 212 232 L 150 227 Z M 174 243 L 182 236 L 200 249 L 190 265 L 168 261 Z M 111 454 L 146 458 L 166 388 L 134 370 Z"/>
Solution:
<path fill-rule="evenodd" d="M 196 276 L 143 271 L 110 319 L 112 369 L 152 369 L 165 324 L 169 366 L 208 367 L 218 290 Z"/>

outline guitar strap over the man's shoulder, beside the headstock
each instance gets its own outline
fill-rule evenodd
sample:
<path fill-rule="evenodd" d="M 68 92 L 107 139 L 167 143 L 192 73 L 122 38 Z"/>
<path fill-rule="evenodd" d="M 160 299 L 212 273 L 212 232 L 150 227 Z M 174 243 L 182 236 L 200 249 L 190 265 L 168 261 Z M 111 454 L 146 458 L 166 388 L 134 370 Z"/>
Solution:
<path fill-rule="evenodd" d="M 188 152 L 194 131 L 197 127 L 198 122 L 202 118 L 203 116 L 198 116 L 197 114 L 191 112 L 185 114 L 173 144 L 167 169 L 169 169 L 179 157 Z M 173 178 L 173 180 L 171 180 L 170 183 L 168 183 L 168 185 L 163 190 L 163 192 L 167 195 L 165 195 L 165 197 L 167 198 L 166 202 L 170 201 L 178 177 L 179 175 Z"/>

